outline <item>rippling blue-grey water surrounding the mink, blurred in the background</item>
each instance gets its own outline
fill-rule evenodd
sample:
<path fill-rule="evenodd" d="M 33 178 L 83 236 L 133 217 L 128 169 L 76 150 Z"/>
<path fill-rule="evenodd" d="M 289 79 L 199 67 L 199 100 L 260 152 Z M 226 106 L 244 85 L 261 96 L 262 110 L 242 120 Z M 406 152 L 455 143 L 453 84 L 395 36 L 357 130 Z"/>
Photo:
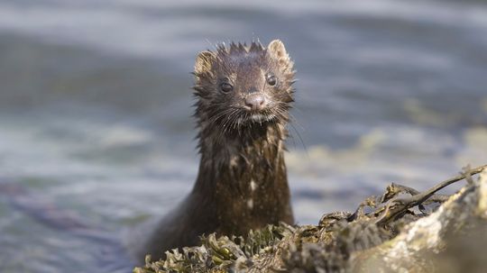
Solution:
<path fill-rule="evenodd" d="M 124 231 L 196 176 L 196 53 L 257 38 L 298 69 L 299 223 L 487 163 L 482 1 L 3 0 L 0 271 L 130 271 Z"/>

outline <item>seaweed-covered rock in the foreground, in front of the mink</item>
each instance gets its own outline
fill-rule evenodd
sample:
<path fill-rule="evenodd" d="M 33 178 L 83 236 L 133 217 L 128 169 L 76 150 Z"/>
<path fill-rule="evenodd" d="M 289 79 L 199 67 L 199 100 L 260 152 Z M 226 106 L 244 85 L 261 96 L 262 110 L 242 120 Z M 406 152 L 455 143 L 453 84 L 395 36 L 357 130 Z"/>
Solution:
<path fill-rule="evenodd" d="M 436 194 L 462 179 L 467 184 L 455 195 Z M 391 184 L 354 213 L 325 214 L 317 225 L 269 225 L 246 238 L 209 234 L 201 246 L 168 251 L 159 261 L 147 257 L 133 271 L 482 272 L 485 234 L 487 166 L 482 166 L 465 168 L 425 192 Z"/>

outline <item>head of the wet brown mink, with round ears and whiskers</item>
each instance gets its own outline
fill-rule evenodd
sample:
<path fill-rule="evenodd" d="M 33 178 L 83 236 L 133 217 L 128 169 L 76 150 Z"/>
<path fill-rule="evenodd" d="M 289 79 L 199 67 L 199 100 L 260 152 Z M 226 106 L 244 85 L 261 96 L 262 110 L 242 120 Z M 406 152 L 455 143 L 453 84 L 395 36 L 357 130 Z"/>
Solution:
<path fill-rule="evenodd" d="M 196 116 L 200 123 L 238 130 L 248 124 L 286 123 L 293 99 L 293 63 L 279 40 L 219 45 L 198 54 Z"/>

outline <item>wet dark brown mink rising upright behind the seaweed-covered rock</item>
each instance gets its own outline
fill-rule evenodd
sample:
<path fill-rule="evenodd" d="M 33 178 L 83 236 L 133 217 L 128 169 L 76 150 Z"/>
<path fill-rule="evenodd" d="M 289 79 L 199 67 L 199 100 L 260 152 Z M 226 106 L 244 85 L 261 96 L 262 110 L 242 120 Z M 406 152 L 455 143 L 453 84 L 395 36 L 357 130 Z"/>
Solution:
<path fill-rule="evenodd" d="M 294 70 L 284 44 L 219 45 L 198 54 L 194 75 L 198 178 L 146 243 L 152 259 L 197 245 L 202 234 L 294 223 L 284 163 Z"/>

